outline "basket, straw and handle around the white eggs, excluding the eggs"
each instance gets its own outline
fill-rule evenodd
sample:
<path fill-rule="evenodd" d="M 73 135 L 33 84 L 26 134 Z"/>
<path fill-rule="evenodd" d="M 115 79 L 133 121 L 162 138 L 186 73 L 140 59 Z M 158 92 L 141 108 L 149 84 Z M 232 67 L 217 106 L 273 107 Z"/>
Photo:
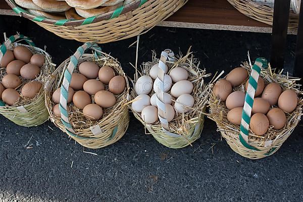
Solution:
<path fill-rule="evenodd" d="M 164 60 L 163 60 L 163 56 Z M 156 54 L 153 53 L 153 60 L 151 62 L 143 63 L 141 70 L 136 69 L 134 80 L 132 81 L 135 86 L 136 81 L 143 75 L 149 76 L 150 69 L 159 63 L 159 69 L 165 64 L 168 67 L 168 73 L 176 67 L 184 68 L 188 72 L 188 81 L 193 84 L 193 91 L 191 95 L 194 98 L 194 105 L 186 113 L 175 113 L 175 117 L 172 121 L 168 122 L 165 112 L 163 109 L 163 102 L 158 98 L 157 93 L 157 108 L 159 120 L 153 124 L 145 123 L 141 117 L 141 113 L 136 112 L 130 104 L 130 109 L 134 113 L 134 116 L 144 125 L 145 129 L 148 130 L 149 134 L 153 135 L 154 138 L 161 144 L 170 148 L 182 148 L 191 145 L 192 142 L 200 137 L 201 131 L 204 127 L 204 112 L 210 93 L 209 85 L 205 83 L 205 78 L 210 76 L 206 74 L 205 70 L 199 69 L 199 61 L 195 59 L 190 52 L 185 56 L 181 56 L 175 59 L 174 54 L 170 50 L 162 52 L 161 59 L 157 59 Z M 162 63 L 162 64 L 161 64 Z M 164 64 L 164 65 L 163 65 Z M 160 72 L 160 70 L 159 70 Z M 163 72 L 164 73 L 164 72 Z M 158 78 L 161 78 L 158 74 Z M 164 75 L 164 74 L 163 74 Z M 161 87 L 160 87 L 161 88 Z M 151 90 L 148 94 L 150 97 L 155 93 Z M 167 93 L 171 93 L 168 91 Z M 130 94 L 131 102 L 134 102 L 137 96 L 136 91 L 133 89 Z M 176 98 L 172 96 L 172 106 L 174 106 Z M 162 106 L 162 107 L 161 107 Z M 147 134 L 147 133 L 146 133 Z"/>

